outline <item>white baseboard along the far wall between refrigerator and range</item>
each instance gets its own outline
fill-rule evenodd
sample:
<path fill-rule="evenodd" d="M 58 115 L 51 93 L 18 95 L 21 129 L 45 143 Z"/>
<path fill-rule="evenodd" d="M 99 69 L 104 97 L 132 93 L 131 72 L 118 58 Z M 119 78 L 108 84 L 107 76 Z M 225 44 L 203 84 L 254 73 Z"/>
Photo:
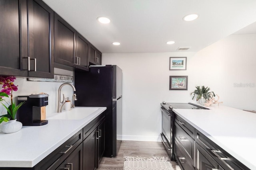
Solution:
<path fill-rule="evenodd" d="M 150 142 L 161 142 L 159 136 L 138 136 L 138 135 L 116 135 L 118 140 L 123 141 L 150 141 Z"/>

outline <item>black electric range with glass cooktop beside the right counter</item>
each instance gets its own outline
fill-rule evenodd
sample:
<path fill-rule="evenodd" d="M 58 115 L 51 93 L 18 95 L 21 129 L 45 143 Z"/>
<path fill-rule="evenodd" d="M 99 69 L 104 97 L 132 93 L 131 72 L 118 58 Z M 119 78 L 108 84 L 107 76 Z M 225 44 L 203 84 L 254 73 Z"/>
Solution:
<path fill-rule="evenodd" d="M 192 103 L 161 103 L 162 142 L 171 160 L 174 160 L 174 112 L 172 109 L 208 109 Z"/>

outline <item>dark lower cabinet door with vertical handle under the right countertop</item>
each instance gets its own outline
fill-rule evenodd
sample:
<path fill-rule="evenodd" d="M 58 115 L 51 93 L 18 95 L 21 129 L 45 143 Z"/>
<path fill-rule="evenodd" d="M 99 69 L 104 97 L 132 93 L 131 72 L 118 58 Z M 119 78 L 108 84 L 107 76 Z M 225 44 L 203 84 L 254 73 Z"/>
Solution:
<path fill-rule="evenodd" d="M 196 143 L 196 170 L 224 170 Z"/>

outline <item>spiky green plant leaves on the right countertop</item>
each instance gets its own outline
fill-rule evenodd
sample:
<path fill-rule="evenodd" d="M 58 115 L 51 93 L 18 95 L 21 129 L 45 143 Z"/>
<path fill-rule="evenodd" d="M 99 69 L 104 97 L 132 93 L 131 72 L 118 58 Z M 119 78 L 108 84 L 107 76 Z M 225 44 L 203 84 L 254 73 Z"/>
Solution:
<path fill-rule="evenodd" d="M 192 92 L 190 94 L 190 96 L 192 96 L 192 94 L 194 94 L 192 100 L 194 99 L 194 97 L 196 96 L 196 101 L 198 101 L 202 96 L 204 99 L 210 100 L 210 98 L 215 97 L 214 92 L 209 92 L 210 88 L 209 87 L 204 87 L 202 86 L 202 88 L 200 88 L 200 86 L 196 87 L 196 90 L 194 92 Z"/>

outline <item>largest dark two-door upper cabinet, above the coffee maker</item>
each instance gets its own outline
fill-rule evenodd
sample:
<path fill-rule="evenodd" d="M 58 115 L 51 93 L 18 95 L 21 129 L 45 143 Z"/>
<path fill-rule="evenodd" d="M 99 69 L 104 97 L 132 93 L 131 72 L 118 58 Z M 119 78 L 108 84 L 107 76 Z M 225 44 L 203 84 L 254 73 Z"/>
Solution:
<path fill-rule="evenodd" d="M 54 77 L 54 12 L 42 0 L 0 0 L 0 74 Z"/>

